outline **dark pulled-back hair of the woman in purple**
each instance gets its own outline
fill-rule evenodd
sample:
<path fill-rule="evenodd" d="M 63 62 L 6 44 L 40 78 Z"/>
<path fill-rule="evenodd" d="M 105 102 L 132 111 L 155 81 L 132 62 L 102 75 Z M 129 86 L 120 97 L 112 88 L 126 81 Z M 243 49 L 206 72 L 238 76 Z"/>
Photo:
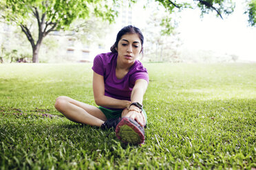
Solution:
<path fill-rule="evenodd" d="M 116 48 L 118 47 L 118 42 L 121 39 L 121 37 L 125 34 L 138 34 L 138 37 L 140 38 L 141 43 L 141 51 L 143 53 L 143 42 L 144 42 L 144 36 L 142 35 L 142 32 L 138 27 L 134 27 L 132 25 L 128 25 L 127 27 L 123 27 L 116 36 L 116 42 L 112 47 L 110 47 L 110 50 L 112 53 L 117 53 Z"/>

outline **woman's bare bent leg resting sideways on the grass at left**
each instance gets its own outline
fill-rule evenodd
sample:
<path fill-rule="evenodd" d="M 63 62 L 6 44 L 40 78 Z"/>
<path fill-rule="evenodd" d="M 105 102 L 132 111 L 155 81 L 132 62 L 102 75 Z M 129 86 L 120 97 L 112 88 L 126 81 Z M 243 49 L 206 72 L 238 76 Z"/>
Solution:
<path fill-rule="evenodd" d="M 76 123 L 100 127 L 107 120 L 105 114 L 100 109 L 70 97 L 58 97 L 55 102 L 55 108 L 67 119 Z"/>

